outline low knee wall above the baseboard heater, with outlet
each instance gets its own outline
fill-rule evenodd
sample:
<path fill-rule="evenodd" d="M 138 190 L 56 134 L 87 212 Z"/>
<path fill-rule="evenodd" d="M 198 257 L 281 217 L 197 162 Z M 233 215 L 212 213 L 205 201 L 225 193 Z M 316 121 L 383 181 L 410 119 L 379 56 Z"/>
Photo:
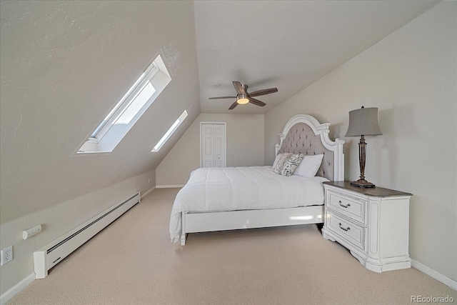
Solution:
<path fill-rule="evenodd" d="M 106 189 L 72 199 L 37 213 L 22 216 L 1 224 L 2 244 L 12 244 L 13 261 L 1 266 L 1 294 L 30 274 L 34 274 L 35 250 L 76 228 L 84 221 L 117 204 L 137 191 L 145 194 L 155 186 L 155 171 L 148 171 Z M 127 211 L 128 213 L 128 211 Z M 41 224 L 41 233 L 22 239 L 22 231 Z"/>

